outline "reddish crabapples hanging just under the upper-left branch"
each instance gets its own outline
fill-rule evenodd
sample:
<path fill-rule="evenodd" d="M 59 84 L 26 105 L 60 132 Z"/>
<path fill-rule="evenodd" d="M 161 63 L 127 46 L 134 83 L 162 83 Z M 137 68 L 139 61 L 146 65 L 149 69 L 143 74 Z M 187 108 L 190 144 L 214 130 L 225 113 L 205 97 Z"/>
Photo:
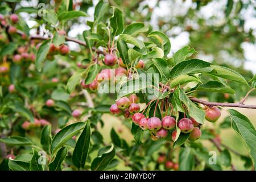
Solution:
<path fill-rule="evenodd" d="M 41 44 L 39 43 L 36 47 L 39 48 L 40 45 Z M 69 53 L 69 47 L 67 45 L 61 44 L 60 46 L 55 46 L 55 44 L 51 44 L 46 58 L 48 60 L 54 60 L 55 55 L 60 54 L 65 56 L 65 55 L 68 55 L 68 53 Z"/>

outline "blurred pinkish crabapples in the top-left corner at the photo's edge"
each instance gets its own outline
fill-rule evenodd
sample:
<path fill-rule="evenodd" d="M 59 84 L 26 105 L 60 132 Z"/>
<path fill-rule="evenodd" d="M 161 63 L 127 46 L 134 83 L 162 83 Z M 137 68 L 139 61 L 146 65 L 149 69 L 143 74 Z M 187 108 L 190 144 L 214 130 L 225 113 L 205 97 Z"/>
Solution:
<path fill-rule="evenodd" d="M 19 16 L 16 14 L 9 15 L 2 15 L 0 14 L 0 23 L 1 26 L 6 27 L 9 24 L 8 27 L 8 33 L 9 34 L 15 34 L 17 32 L 17 29 L 15 27 L 15 24 L 19 22 Z"/>

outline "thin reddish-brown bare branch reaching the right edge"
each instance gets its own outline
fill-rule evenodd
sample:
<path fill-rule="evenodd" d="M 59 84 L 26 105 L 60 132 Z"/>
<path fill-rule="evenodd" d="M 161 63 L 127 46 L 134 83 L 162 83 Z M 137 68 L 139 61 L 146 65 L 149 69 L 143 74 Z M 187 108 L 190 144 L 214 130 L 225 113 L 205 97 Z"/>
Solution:
<path fill-rule="evenodd" d="M 242 107 L 247 109 L 256 109 L 256 105 L 246 105 L 246 104 L 240 104 L 240 103 L 208 102 L 208 101 L 203 101 L 198 98 L 190 97 L 190 96 L 189 96 L 189 99 L 193 102 L 197 102 L 207 106 L 226 106 L 226 107 Z"/>

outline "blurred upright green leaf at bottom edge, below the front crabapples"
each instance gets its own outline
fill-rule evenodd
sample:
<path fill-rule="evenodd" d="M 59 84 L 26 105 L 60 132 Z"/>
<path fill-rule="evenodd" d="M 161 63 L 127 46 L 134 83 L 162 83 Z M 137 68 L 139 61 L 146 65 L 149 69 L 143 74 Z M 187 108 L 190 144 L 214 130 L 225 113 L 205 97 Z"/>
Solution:
<path fill-rule="evenodd" d="M 192 171 L 195 164 L 195 158 L 192 154 L 192 149 L 189 147 L 182 148 L 179 155 L 179 170 Z"/>

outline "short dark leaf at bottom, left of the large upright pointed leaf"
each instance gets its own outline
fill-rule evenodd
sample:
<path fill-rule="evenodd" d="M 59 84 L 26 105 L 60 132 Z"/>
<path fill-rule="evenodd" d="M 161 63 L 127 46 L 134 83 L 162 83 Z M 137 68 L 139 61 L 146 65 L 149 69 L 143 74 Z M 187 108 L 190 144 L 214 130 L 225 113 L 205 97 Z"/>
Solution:
<path fill-rule="evenodd" d="M 49 163 L 49 170 L 50 171 L 61 171 L 61 163 L 63 163 L 64 159 L 68 154 L 68 150 L 66 147 L 60 148 L 57 152 L 55 159 Z"/>

